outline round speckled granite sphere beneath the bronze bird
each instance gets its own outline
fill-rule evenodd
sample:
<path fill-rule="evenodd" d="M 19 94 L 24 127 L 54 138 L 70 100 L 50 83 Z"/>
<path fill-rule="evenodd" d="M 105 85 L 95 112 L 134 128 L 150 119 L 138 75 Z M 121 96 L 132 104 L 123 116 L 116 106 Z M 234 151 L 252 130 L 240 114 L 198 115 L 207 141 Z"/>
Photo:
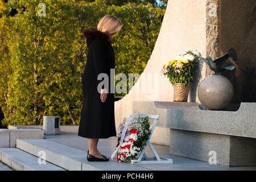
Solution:
<path fill-rule="evenodd" d="M 234 88 L 225 76 L 211 75 L 200 82 L 197 94 L 202 105 L 210 110 L 221 110 L 232 101 Z"/>

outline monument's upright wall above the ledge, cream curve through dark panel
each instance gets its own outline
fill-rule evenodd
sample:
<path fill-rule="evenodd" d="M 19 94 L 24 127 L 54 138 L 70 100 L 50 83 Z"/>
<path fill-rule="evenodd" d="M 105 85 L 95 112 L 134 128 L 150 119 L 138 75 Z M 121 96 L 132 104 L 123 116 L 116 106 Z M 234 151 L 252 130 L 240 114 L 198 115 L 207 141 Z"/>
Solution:
<path fill-rule="evenodd" d="M 246 73 L 243 69 L 248 67 L 253 70 L 256 64 L 254 11 L 253 0 L 168 1 L 162 27 L 146 68 L 130 92 L 115 102 L 116 128 L 124 117 L 132 113 L 133 101 L 173 101 L 174 88 L 167 78 L 160 75 L 160 69 L 187 48 L 197 49 L 202 57 L 210 56 L 212 59 L 229 52 L 232 57 L 230 61 L 235 61 L 238 68 L 221 74 L 229 78 L 234 86 L 233 102 L 255 102 L 255 76 L 252 75 L 255 71 Z M 207 64 L 200 61 L 197 77 L 189 90 L 188 102 L 200 103 L 197 87 L 201 80 L 213 73 Z M 146 92 L 143 92 L 144 88 L 147 88 Z M 156 127 L 155 133 L 159 133 L 158 138 L 170 135 L 169 130 L 159 127 Z M 155 142 L 158 140 L 154 137 L 151 139 Z"/>

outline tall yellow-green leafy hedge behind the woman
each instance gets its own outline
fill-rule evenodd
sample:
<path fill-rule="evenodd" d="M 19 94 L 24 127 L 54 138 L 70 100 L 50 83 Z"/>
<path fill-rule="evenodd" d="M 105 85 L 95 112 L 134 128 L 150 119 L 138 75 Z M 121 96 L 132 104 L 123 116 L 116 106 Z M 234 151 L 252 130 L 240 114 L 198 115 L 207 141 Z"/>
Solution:
<path fill-rule="evenodd" d="M 115 73 L 142 73 L 150 58 L 164 8 L 105 1 L 51 0 L 39 16 L 40 0 L 0 1 L 0 105 L 5 124 L 42 125 L 43 115 L 78 125 L 81 77 L 86 63 L 85 28 L 96 28 L 106 14 L 123 27 L 113 37 Z M 16 16 L 6 16 L 15 9 Z M 1 18 L 2 17 L 2 18 Z M 116 94 L 118 95 L 118 94 Z"/>

